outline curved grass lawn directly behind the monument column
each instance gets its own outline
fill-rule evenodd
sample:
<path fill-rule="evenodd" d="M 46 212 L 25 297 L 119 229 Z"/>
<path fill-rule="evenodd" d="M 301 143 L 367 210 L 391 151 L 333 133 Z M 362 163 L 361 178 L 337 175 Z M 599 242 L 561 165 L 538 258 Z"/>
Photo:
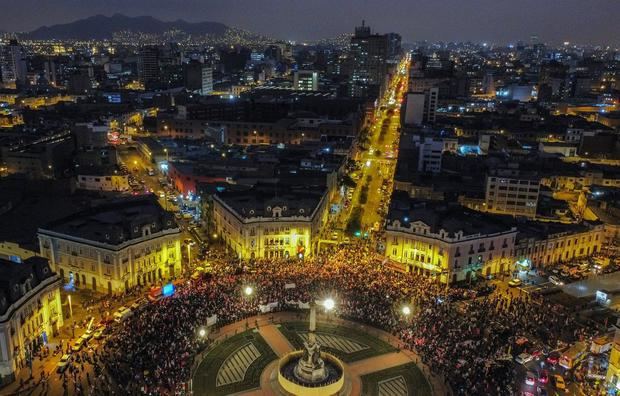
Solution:
<path fill-rule="evenodd" d="M 280 325 L 279 330 L 284 335 L 284 337 L 289 340 L 293 348 L 301 349 L 303 348 L 303 340 L 299 336 L 299 333 L 308 332 L 308 322 L 283 323 L 282 325 Z M 367 359 L 373 356 L 383 355 L 384 353 L 390 353 L 396 350 L 387 342 L 351 327 L 343 327 L 319 322 L 317 323 L 316 332 L 317 335 L 323 334 L 338 336 L 368 346 L 368 348 L 361 351 L 345 353 L 341 350 L 333 349 L 326 345 L 322 345 L 322 349 L 325 352 L 329 352 L 347 363 Z"/>

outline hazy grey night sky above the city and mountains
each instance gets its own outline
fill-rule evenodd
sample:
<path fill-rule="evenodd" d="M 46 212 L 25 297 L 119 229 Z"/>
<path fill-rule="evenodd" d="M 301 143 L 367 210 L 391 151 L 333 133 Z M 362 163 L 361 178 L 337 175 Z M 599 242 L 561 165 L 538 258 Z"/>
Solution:
<path fill-rule="evenodd" d="M 350 32 L 362 19 L 405 41 L 620 45 L 620 0 L 0 0 L 0 30 L 28 31 L 120 12 L 162 20 L 215 21 L 277 38 Z"/>

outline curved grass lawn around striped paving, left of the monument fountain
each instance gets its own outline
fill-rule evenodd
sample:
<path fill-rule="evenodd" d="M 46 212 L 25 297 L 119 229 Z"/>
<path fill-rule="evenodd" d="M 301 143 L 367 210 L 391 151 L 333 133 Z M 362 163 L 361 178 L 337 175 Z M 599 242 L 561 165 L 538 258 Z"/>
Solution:
<path fill-rule="evenodd" d="M 216 387 L 217 373 L 226 358 L 248 342 L 256 346 L 260 356 L 250 365 L 243 381 Z M 260 334 L 252 330 L 237 334 L 211 350 L 198 366 L 193 379 L 194 394 L 223 396 L 258 388 L 263 369 L 277 358 Z"/>

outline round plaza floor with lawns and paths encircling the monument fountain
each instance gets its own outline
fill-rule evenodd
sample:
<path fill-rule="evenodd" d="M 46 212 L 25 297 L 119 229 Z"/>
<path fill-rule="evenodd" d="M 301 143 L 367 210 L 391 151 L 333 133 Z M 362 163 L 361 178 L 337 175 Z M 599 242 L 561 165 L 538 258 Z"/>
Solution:
<path fill-rule="evenodd" d="M 195 370 L 194 394 L 279 395 L 273 373 L 278 358 L 300 349 L 307 339 L 303 320 L 295 313 L 262 315 L 212 332 L 215 346 Z M 399 341 L 388 333 L 329 318 L 329 322 L 319 319 L 316 334 L 323 350 L 344 362 L 350 395 L 449 394 L 443 381 L 430 375 L 413 352 L 401 350 Z"/>

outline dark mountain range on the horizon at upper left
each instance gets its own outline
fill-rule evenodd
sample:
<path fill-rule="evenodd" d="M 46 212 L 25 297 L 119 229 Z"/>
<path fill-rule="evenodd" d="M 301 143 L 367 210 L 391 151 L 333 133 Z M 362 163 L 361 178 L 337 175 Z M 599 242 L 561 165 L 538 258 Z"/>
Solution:
<path fill-rule="evenodd" d="M 95 15 L 60 25 L 42 26 L 26 35 L 30 39 L 109 39 L 112 33 L 132 31 L 148 34 L 162 34 L 178 29 L 192 35 L 221 35 L 228 27 L 218 22 L 186 22 L 181 19 L 171 22 L 160 21 L 150 16 L 128 17 L 122 14 L 112 16 Z"/>

